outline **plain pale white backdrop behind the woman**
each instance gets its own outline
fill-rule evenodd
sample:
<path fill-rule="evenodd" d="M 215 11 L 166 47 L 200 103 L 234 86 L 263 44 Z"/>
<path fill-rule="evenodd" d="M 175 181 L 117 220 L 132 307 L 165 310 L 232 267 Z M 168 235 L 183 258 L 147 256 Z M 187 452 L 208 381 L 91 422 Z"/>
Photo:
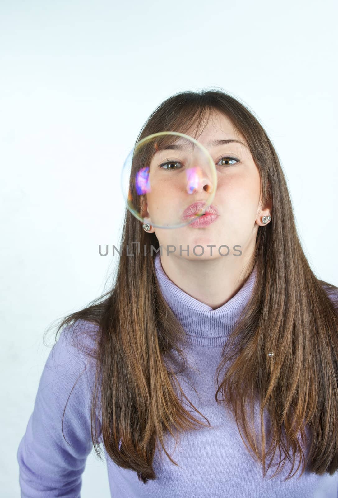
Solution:
<path fill-rule="evenodd" d="M 338 285 L 337 15 L 328 0 L 0 3 L 1 496 L 20 493 L 43 332 L 108 290 L 120 169 L 169 96 L 218 88 L 254 112 L 310 264 Z M 110 497 L 94 452 L 81 496 Z"/>

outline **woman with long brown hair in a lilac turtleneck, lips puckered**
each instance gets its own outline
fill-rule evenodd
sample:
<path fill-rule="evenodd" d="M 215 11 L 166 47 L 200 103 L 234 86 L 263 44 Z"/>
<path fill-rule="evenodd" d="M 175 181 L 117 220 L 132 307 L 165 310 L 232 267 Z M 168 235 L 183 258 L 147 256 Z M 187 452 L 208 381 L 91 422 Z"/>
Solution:
<path fill-rule="evenodd" d="M 159 191 L 148 223 L 126 210 L 113 289 L 58 328 L 17 452 L 22 497 L 80 496 L 101 443 L 112 497 L 337 498 L 338 287 L 304 255 L 277 153 L 219 90 L 167 99 L 136 142 L 167 130 L 208 148 L 218 217 L 153 227 L 187 201 Z M 132 241 L 146 250 L 129 257 Z"/>

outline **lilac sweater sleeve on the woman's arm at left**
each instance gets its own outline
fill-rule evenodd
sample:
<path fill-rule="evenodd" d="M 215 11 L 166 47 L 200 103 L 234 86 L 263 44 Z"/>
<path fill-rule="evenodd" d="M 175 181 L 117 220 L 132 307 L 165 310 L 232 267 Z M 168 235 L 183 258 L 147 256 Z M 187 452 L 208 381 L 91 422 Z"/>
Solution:
<path fill-rule="evenodd" d="M 17 450 L 21 498 L 80 497 L 82 474 L 93 448 L 89 381 L 93 359 L 74 347 L 71 330 L 72 326 L 61 331 L 49 353 Z"/>

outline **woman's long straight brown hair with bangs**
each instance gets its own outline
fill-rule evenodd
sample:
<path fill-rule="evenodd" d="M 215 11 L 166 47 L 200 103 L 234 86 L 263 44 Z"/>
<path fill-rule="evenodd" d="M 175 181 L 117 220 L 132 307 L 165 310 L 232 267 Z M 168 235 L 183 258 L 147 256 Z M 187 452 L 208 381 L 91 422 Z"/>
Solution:
<path fill-rule="evenodd" d="M 307 441 L 306 426 L 311 433 L 309 471 L 333 475 L 338 469 L 338 288 L 317 278 L 310 268 L 297 235 L 280 161 L 262 125 L 244 104 L 221 90 L 187 91 L 160 104 L 136 142 L 158 131 L 185 133 L 192 126 L 198 128 L 213 111 L 224 113 L 245 137 L 259 169 L 263 205 L 272 201 L 272 222 L 258 228 L 255 286 L 223 348 L 218 380 L 225 364 L 227 369 L 215 399 L 233 413 L 243 443 L 263 464 L 264 476 L 268 470 L 265 459 L 272 451 L 274 456 L 282 448 L 285 463 L 286 458 L 290 460 L 291 447 L 292 469 L 297 452 L 300 462 L 304 459 L 298 434 Z M 134 195 L 133 202 L 138 202 Z M 140 251 L 128 257 L 126 246 L 133 247 L 136 240 L 140 247 L 146 246 L 146 255 Z M 151 246 L 155 251 L 159 248 L 155 233 L 145 233 L 141 222 L 126 209 L 113 288 L 81 311 L 67 315 L 56 332 L 82 320 L 96 324 L 95 350 L 90 354 L 96 365 L 91 409 L 94 448 L 101 458 L 95 420 L 100 407 L 108 455 L 117 466 L 137 472 L 143 483 L 156 479 L 152 463 L 158 442 L 177 465 L 164 448 L 166 432 L 179 436 L 185 430 L 210 426 L 178 382 L 177 373 L 187 370 L 180 347 L 184 330 L 159 290 Z M 273 358 L 269 351 L 274 352 Z M 175 365 L 177 358 L 179 370 L 175 371 L 165 360 Z M 218 399 L 220 391 L 223 400 Z M 206 424 L 183 407 L 182 396 Z M 250 402 L 253 417 L 255 398 L 261 407 L 261 451 L 245 414 Z M 268 451 L 264 409 L 272 427 Z M 277 471 L 280 464 L 281 459 Z M 306 464 L 303 462 L 302 474 Z"/>

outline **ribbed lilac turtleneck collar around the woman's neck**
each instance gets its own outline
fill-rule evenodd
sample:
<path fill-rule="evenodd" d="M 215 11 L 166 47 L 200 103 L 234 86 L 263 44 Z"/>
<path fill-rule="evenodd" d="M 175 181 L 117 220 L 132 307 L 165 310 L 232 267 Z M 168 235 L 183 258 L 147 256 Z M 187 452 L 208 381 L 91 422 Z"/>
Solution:
<path fill-rule="evenodd" d="M 154 258 L 159 287 L 168 306 L 182 324 L 186 340 L 200 346 L 221 347 L 248 302 L 256 278 L 253 268 L 244 285 L 216 310 L 180 289 L 163 270 L 160 253 Z"/>

